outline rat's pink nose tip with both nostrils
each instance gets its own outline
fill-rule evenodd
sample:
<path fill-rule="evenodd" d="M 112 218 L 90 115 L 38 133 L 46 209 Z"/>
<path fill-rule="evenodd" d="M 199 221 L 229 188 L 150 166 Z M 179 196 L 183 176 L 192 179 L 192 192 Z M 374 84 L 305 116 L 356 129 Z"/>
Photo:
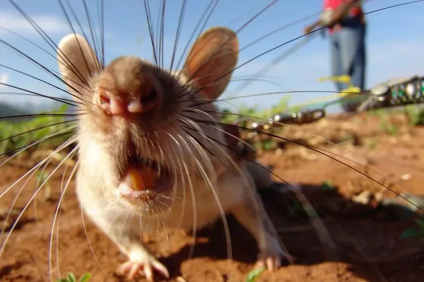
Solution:
<path fill-rule="evenodd" d="M 157 93 L 154 90 L 126 99 L 103 92 L 98 99 L 99 106 L 110 115 L 146 113 L 155 107 L 156 102 Z"/>

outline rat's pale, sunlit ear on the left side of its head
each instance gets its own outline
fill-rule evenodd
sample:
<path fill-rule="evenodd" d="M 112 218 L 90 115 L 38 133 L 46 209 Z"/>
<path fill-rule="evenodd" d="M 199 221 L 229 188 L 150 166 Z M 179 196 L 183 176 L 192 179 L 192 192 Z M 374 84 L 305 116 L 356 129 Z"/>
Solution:
<path fill-rule="evenodd" d="M 87 82 L 98 71 L 100 64 L 83 36 L 71 33 L 63 37 L 58 44 L 56 58 L 62 79 L 72 94 L 79 96 L 75 90 L 81 92 L 84 88 L 89 89 Z"/>

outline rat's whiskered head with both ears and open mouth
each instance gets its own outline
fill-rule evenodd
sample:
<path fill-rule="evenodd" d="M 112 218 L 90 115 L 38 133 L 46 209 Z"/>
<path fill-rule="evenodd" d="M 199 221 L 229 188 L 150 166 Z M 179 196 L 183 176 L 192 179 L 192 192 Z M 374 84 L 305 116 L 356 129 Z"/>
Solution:
<path fill-rule="evenodd" d="M 140 206 L 179 198 L 179 188 L 213 181 L 231 162 L 212 104 L 237 62 L 231 30 L 203 33 L 174 73 L 128 56 L 103 66 L 77 34 L 58 47 L 62 79 L 80 110 L 80 169 L 92 187 Z"/>

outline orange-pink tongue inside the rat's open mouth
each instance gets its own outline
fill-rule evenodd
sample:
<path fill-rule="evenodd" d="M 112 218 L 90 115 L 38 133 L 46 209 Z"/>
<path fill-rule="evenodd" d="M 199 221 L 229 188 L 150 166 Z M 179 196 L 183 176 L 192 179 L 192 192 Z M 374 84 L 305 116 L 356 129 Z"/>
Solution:
<path fill-rule="evenodd" d="M 133 191 L 146 191 L 154 188 L 156 184 L 156 172 L 148 166 L 129 166 L 122 178 L 121 185 Z"/>

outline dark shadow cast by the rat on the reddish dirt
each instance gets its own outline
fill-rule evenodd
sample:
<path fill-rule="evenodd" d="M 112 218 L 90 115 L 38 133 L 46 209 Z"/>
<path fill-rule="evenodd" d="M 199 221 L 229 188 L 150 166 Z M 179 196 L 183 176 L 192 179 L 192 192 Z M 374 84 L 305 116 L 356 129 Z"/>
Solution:
<path fill-rule="evenodd" d="M 293 193 L 262 191 L 268 214 L 288 252 L 296 258 L 294 265 L 342 262 L 349 265 L 349 271 L 356 277 L 370 282 L 424 280 L 424 240 L 401 236 L 406 228 L 416 227 L 412 212 L 408 213 L 402 205 L 364 205 L 345 198 L 338 193 L 337 187 L 301 186 L 329 232 L 335 249 L 321 243 L 310 218 Z M 407 213 L 409 216 L 405 216 Z M 257 254 L 255 241 L 231 215 L 227 220 L 233 260 L 254 264 Z M 209 241 L 195 245 L 193 259 L 227 258 L 222 221 L 198 232 L 197 237 L 208 238 Z M 166 265 L 172 266 L 169 270 L 173 277 L 181 275 L 181 263 L 187 260 L 189 253 L 190 246 L 186 245 L 163 258 Z M 287 262 L 283 263 L 283 268 L 288 266 Z M 226 281 L 225 275 L 221 279 Z"/>

